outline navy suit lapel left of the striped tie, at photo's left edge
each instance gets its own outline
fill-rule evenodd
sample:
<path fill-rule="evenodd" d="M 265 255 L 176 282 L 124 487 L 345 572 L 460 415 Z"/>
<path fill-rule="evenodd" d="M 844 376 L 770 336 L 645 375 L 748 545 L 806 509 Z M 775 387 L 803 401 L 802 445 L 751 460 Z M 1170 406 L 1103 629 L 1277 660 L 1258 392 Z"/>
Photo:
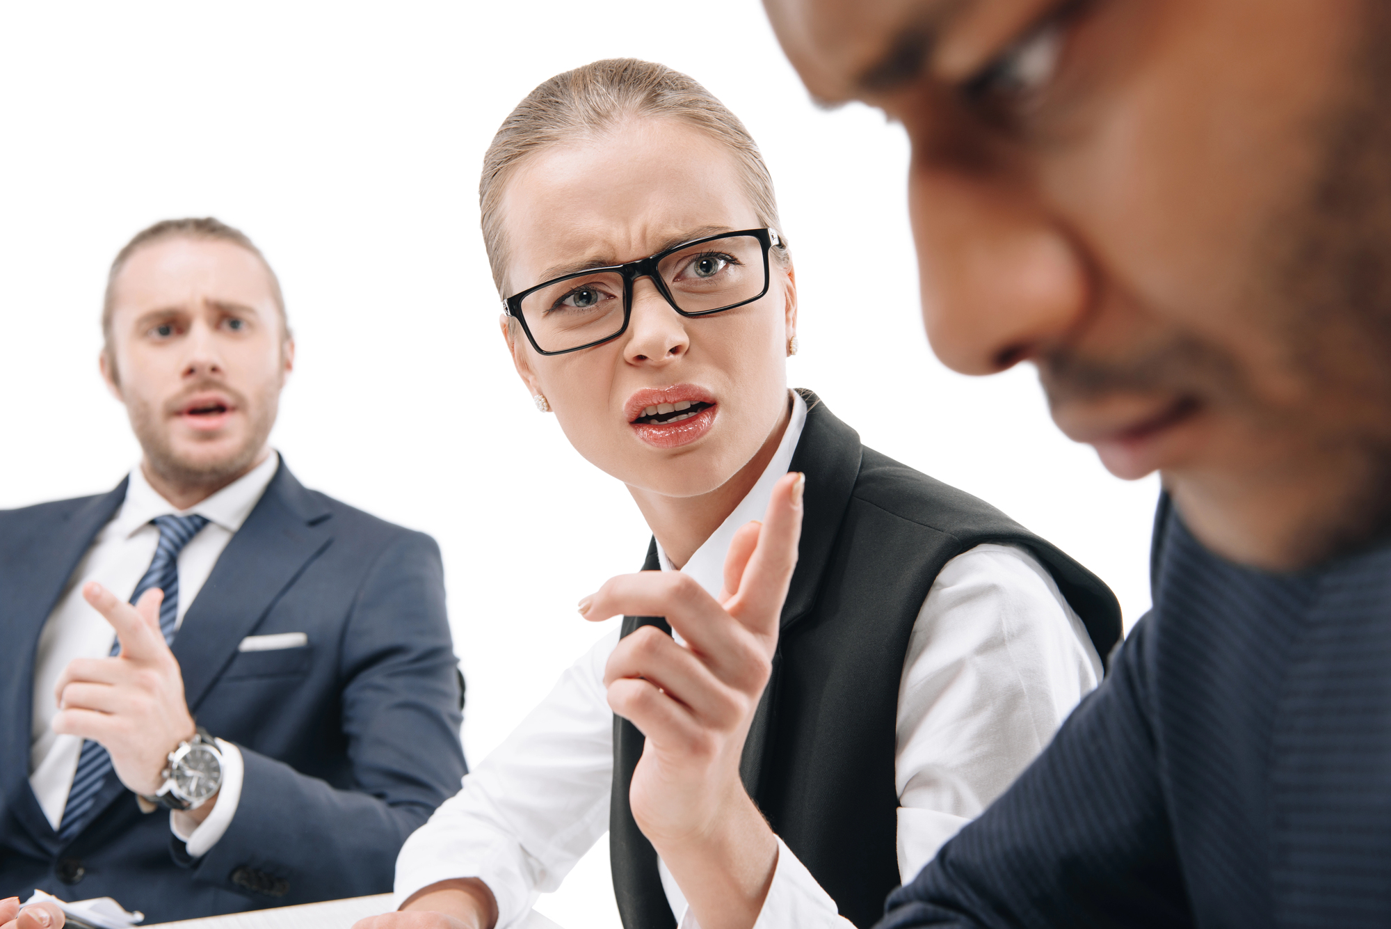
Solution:
<path fill-rule="evenodd" d="M 125 501 L 125 485 L 122 480 L 108 494 L 74 501 L 71 509 L 56 515 L 51 526 L 38 526 L 22 538 L 0 540 L 0 615 L 15 645 L 0 649 L 0 705 L 11 708 L 6 744 L 0 747 L 0 795 L 4 807 L 50 851 L 57 848 L 58 837 L 29 789 L 39 634 L 92 540 Z"/>

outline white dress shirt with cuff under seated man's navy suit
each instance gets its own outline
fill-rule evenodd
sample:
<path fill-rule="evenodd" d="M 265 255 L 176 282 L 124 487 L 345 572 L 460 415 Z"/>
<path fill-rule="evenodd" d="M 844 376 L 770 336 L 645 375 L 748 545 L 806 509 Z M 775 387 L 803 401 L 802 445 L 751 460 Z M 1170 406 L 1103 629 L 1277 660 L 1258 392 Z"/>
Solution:
<path fill-rule="evenodd" d="M 209 523 L 178 554 L 178 629 L 189 604 L 213 573 L 223 549 L 256 508 L 278 466 L 280 455 L 273 452 L 250 471 L 186 510 L 175 509 L 160 496 L 139 464 L 131 469 L 121 509 L 92 540 L 39 634 L 33 668 L 29 786 L 54 829 L 63 822 L 82 740 L 77 736 L 60 736 L 50 729 L 53 716 L 58 712 L 53 690 L 74 659 L 107 658 L 115 641 L 111 624 L 83 599 L 82 587 L 88 581 L 97 581 L 121 599 L 129 599 L 135 585 L 149 570 L 160 541 L 160 530 L 150 520 L 156 516 L 198 513 Z M 181 811 L 172 811 L 170 816 L 170 827 L 186 843 L 188 854 L 195 858 L 207 854 L 223 837 L 241 802 L 242 754 L 236 745 L 221 738 L 217 740 L 217 747 L 223 752 L 223 787 L 213 812 L 202 823 Z"/>

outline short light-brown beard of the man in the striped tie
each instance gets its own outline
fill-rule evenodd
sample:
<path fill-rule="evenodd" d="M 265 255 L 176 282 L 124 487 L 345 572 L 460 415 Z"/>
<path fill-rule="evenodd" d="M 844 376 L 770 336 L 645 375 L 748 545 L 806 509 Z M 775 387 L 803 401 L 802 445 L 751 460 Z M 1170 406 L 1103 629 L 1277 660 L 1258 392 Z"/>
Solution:
<path fill-rule="evenodd" d="M 145 452 L 146 464 L 161 480 L 178 488 L 216 492 L 256 464 L 256 458 L 266 448 L 270 430 L 275 424 L 280 391 L 271 385 L 262 396 L 248 402 L 243 395 L 225 385 L 204 382 L 193 385 L 185 394 L 192 395 L 199 391 L 225 394 L 236 409 L 245 412 L 249 420 L 250 428 L 245 441 L 230 453 L 220 458 L 181 455 L 170 442 L 168 431 L 164 428 L 170 410 L 142 401 L 134 401 L 129 405 L 131 428 Z"/>

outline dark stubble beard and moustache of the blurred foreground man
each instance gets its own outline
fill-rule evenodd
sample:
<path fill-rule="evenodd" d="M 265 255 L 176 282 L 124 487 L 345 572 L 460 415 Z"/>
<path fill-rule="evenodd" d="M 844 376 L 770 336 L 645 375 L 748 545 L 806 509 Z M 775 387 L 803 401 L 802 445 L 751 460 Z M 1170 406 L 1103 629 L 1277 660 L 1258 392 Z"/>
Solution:
<path fill-rule="evenodd" d="M 1316 167 L 1248 259 L 1245 317 L 1302 395 L 1259 395 L 1238 357 L 1191 334 L 1136 355 L 1060 349 L 1038 360 L 1054 407 L 1114 392 L 1202 398 L 1253 431 L 1301 431 L 1341 485 L 1288 533 L 1284 560 L 1314 565 L 1391 535 L 1391 4 L 1369 3 L 1342 97 L 1310 127 Z"/>

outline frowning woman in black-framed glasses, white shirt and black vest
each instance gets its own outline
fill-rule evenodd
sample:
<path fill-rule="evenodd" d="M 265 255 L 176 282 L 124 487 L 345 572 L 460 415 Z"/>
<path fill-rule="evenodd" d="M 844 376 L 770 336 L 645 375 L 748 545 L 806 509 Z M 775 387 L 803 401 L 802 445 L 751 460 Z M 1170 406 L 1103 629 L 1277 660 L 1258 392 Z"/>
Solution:
<path fill-rule="evenodd" d="M 547 81 L 480 195 L 517 373 L 632 491 L 650 573 L 581 602 L 633 615 L 410 837 L 374 922 L 510 925 L 608 830 L 629 929 L 871 925 L 1096 686 L 1114 597 L 787 389 L 772 181 L 690 78 Z"/>

